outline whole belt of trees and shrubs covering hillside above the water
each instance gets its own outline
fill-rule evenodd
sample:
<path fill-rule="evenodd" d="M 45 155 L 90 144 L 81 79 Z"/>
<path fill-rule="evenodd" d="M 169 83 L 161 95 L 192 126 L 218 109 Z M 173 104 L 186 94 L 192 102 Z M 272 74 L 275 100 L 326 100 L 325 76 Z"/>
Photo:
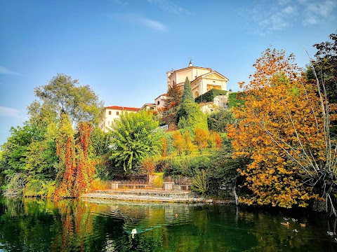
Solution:
<path fill-rule="evenodd" d="M 337 36 L 330 38 L 304 70 L 293 55 L 267 48 L 243 91 L 229 95 L 229 109 L 202 113 L 197 102 L 218 92 L 196 102 L 186 78 L 183 92 L 168 90 L 159 116 L 125 113 L 107 133 L 97 94 L 58 74 L 35 89 L 29 120 L 1 146 L 1 192 L 57 200 L 116 175 L 161 172 L 190 178 L 209 197 L 337 215 Z"/>

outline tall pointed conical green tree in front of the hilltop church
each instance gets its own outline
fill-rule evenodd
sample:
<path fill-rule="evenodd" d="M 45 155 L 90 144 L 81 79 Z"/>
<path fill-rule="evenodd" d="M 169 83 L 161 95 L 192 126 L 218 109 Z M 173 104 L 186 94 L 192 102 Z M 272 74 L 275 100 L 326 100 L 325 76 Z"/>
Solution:
<path fill-rule="evenodd" d="M 190 80 L 186 78 L 183 97 L 176 114 L 176 123 L 178 128 L 189 130 L 191 133 L 194 128 L 208 130 L 207 117 L 202 113 L 199 105 L 194 102 Z"/>

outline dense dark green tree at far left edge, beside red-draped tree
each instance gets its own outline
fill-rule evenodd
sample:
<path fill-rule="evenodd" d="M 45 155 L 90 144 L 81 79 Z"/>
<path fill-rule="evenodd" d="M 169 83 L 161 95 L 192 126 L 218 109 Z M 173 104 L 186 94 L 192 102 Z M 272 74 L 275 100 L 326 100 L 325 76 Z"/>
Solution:
<path fill-rule="evenodd" d="M 0 172 L 5 179 L 5 193 L 22 193 L 27 182 L 34 178 L 55 179 L 54 165 L 58 162 L 55 143 L 46 141 L 45 129 L 26 122 L 12 127 L 11 137 L 1 146 Z"/>

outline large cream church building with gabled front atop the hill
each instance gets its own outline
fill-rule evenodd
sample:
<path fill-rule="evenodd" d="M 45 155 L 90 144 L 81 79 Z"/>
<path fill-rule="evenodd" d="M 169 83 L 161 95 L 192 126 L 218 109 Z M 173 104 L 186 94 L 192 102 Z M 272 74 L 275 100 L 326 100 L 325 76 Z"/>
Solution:
<path fill-rule="evenodd" d="M 193 66 L 192 63 L 184 68 L 167 72 L 167 88 L 177 83 L 183 88 L 186 77 L 190 80 L 193 97 L 211 90 L 226 90 L 228 78 L 210 68 Z"/>

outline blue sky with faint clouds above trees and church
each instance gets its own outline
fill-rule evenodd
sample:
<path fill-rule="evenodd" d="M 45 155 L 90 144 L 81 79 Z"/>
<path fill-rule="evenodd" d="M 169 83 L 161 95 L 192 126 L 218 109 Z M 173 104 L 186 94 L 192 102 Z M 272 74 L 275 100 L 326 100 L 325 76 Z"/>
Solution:
<path fill-rule="evenodd" d="M 270 45 L 305 66 L 302 45 L 313 56 L 336 32 L 336 13 L 336 0 L 0 0 L 0 144 L 27 120 L 34 87 L 57 73 L 105 106 L 140 107 L 192 57 L 237 91 Z"/>

